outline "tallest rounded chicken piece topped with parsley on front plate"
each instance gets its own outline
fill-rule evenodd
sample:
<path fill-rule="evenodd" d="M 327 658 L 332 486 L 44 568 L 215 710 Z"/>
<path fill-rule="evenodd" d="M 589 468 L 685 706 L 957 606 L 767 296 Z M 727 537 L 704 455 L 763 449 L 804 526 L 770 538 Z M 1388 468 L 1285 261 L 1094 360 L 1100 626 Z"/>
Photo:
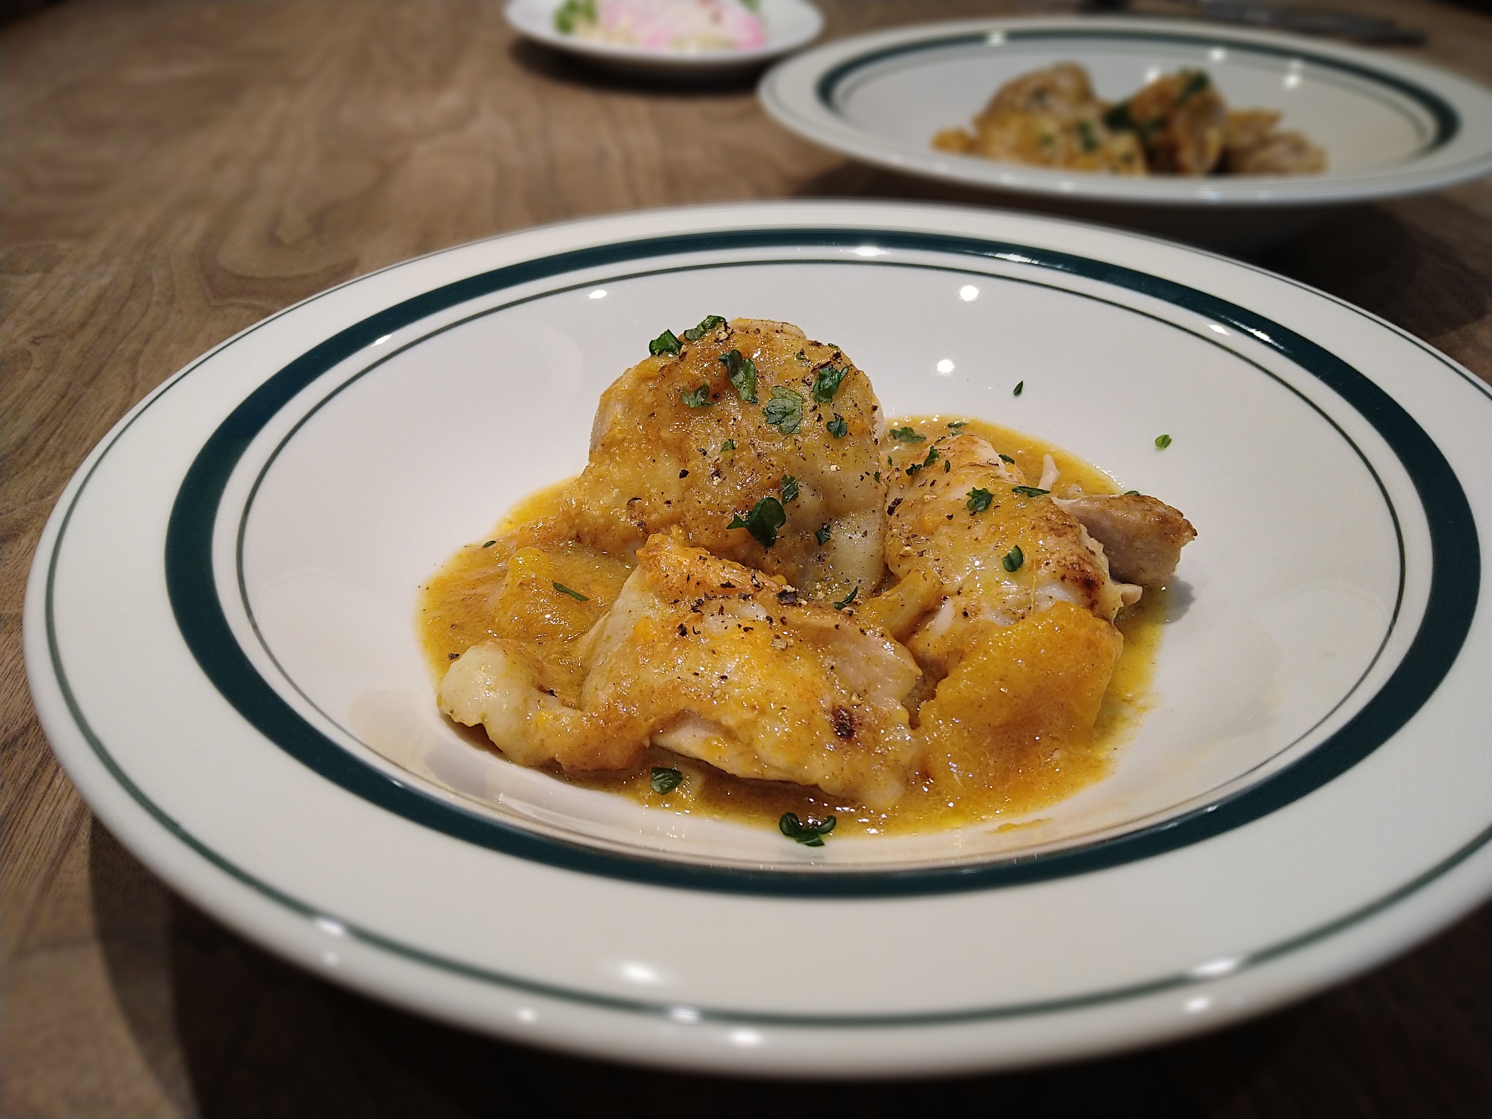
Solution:
<path fill-rule="evenodd" d="M 718 557 L 841 600 L 880 580 L 880 439 L 870 379 L 786 322 L 710 316 L 601 395 L 591 460 L 567 495 L 604 552 L 679 528 Z"/>

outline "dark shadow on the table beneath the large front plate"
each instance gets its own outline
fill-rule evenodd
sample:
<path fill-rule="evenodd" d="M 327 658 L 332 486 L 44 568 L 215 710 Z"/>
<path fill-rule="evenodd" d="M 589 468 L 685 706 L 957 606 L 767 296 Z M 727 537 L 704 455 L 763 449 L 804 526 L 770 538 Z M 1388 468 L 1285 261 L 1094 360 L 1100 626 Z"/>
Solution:
<path fill-rule="evenodd" d="M 837 1083 L 631 1068 L 404 1013 L 231 932 L 97 821 L 90 883 L 136 1043 L 182 1113 L 207 1119 L 1492 1113 L 1492 904 L 1365 979 L 1198 1040 L 1028 1073 Z"/>

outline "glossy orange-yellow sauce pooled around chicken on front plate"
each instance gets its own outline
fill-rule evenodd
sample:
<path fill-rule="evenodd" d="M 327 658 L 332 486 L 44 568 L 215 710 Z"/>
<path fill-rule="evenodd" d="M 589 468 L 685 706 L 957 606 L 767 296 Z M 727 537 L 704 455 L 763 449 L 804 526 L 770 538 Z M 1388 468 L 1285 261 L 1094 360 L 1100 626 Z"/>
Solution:
<path fill-rule="evenodd" d="M 934 433 L 946 431 L 947 424 L 944 416 L 909 416 L 894 421 L 891 427 L 912 425 L 919 431 Z M 1076 482 L 1089 494 L 1119 492 L 1113 479 L 1103 471 L 1024 433 L 977 419 L 967 421 L 961 430 L 988 439 L 997 451 L 1013 458 L 1032 482 L 1041 476 L 1043 455 L 1052 455 L 1059 470 L 1059 488 Z M 546 627 L 555 633 L 583 633 L 615 600 L 633 567 L 630 558 L 594 554 L 561 557 L 552 570 L 543 571 L 543 577 L 555 576 L 555 582 L 565 586 L 579 585 L 589 592 L 586 603 L 570 606 L 567 600 L 558 610 L 525 616 L 509 612 L 504 613 L 504 621 L 494 621 L 494 604 L 497 613 L 504 610 L 503 588 L 509 577 L 515 537 L 525 533 L 531 536 L 536 524 L 555 524 L 561 516 L 560 500 L 567 485 L 568 480 L 560 482 L 521 501 L 492 530 L 491 537 L 457 552 L 422 589 L 418 621 L 421 643 L 437 682 L 452 655 L 460 655 L 479 642 L 515 636 L 513 627 L 525 634 Z M 555 613 L 570 616 L 560 618 Z M 1116 750 L 1149 709 L 1164 621 L 1164 589 L 1146 589 L 1138 604 L 1120 612 L 1116 625 L 1125 639 L 1123 652 L 1104 692 L 1089 742 L 1076 746 L 1068 743 L 1058 750 L 1040 742 L 1006 742 L 1001 745 L 1007 755 L 1001 780 L 991 788 L 973 792 L 965 789 L 958 797 L 946 795 L 924 774 L 895 807 L 880 812 L 833 797 L 815 786 L 733 777 L 659 747 L 646 749 L 637 765 L 628 770 L 565 773 L 555 765 L 549 771 L 558 780 L 615 792 L 651 809 L 756 827 L 777 827 L 785 812 L 816 821 L 833 815 L 837 821 L 836 834 L 934 831 L 976 822 L 1022 827 L 1032 822 L 1026 819 L 1032 812 L 1073 795 L 1110 770 Z M 480 728 L 457 730 L 474 749 L 495 749 Z M 653 767 L 676 768 L 683 780 L 671 792 L 653 792 Z"/>

